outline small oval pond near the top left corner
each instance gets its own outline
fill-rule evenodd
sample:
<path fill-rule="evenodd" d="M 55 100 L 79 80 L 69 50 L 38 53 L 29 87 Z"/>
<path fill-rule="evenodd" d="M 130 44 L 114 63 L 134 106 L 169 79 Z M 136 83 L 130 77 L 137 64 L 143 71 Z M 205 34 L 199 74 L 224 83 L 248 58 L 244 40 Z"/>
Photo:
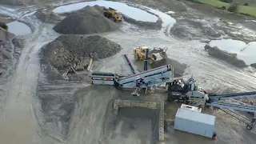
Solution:
<path fill-rule="evenodd" d="M 18 22 L 18 21 L 10 22 L 10 23 L 7 23 L 7 26 L 8 26 L 8 31 L 10 31 L 10 33 L 13 33 L 15 35 L 25 35 L 25 34 L 31 33 L 30 27 L 22 22 Z"/>

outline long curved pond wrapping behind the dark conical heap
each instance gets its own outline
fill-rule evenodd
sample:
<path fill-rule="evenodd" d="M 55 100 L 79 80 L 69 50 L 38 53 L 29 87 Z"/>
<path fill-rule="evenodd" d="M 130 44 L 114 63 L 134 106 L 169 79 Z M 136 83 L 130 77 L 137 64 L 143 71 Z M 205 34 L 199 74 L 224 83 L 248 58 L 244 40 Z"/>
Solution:
<path fill-rule="evenodd" d="M 53 11 L 54 13 L 61 14 L 66 13 L 74 10 L 80 10 L 85 6 L 106 6 L 112 7 L 122 14 L 126 14 L 130 18 L 134 18 L 137 21 L 142 22 L 157 22 L 158 17 L 153 14 L 147 13 L 145 10 L 140 10 L 138 8 L 128 6 L 122 2 L 110 2 L 110 1 L 94 1 L 94 2 L 79 2 L 74 3 L 66 6 L 58 6 Z"/>

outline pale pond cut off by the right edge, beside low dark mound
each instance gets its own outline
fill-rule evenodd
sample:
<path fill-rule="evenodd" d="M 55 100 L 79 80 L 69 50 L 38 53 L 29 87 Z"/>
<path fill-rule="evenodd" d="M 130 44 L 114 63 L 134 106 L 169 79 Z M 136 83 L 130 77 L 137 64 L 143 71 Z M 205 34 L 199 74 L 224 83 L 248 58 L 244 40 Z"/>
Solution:
<path fill-rule="evenodd" d="M 217 46 L 221 50 L 238 54 L 238 59 L 243 60 L 247 65 L 256 63 L 256 42 L 250 42 L 246 45 L 246 42 L 222 39 L 211 41 L 210 46 Z"/>

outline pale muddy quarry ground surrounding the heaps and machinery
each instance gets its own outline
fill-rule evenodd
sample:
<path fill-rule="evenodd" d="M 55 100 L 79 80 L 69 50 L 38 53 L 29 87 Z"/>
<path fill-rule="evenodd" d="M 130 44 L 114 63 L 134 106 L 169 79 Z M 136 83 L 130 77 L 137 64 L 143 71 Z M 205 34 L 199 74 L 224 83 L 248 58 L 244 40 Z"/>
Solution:
<path fill-rule="evenodd" d="M 159 10 L 162 3 L 159 2 Z M 24 8 L 24 10 L 26 10 Z M 118 119 L 112 118 L 114 99 L 160 101 L 164 94 L 154 92 L 130 98 L 130 92 L 122 92 L 104 86 L 90 86 L 87 82 L 59 82 L 47 80 L 40 71 L 38 50 L 59 34 L 54 25 L 38 22 L 34 17 L 26 19 L 35 30 L 26 35 L 18 66 L 10 78 L 1 80 L 0 141 L 16 144 L 95 144 L 95 143 L 158 143 L 154 131 L 154 111 L 139 108 L 120 110 Z M 238 69 L 225 62 L 211 58 L 204 43 L 173 38 L 164 30 L 143 30 L 124 22 L 120 30 L 100 34 L 118 42 L 122 51 L 98 62 L 97 70 L 126 74 L 122 54 L 130 54 L 134 46 L 158 46 L 170 48 L 168 57 L 185 63 L 184 74 L 191 74 L 200 86 L 214 92 L 253 91 L 256 87 L 254 70 Z M 118 61 L 117 61 L 118 59 Z M 133 57 L 130 55 L 130 59 Z M 142 62 L 134 62 L 142 69 Z M 173 64 L 174 67 L 175 64 Z M 174 69 L 175 70 L 175 69 Z M 166 104 L 166 117 L 174 119 L 179 105 Z M 211 112 L 210 112 L 211 113 Z M 246 130 L 242 122 L 217 111 L 216 141 L 194 134 L 186 134 L 171 128 L 166 130 L 166 140 L 161 143 L 219 143 L 253 144 L 256 130 Z"/>

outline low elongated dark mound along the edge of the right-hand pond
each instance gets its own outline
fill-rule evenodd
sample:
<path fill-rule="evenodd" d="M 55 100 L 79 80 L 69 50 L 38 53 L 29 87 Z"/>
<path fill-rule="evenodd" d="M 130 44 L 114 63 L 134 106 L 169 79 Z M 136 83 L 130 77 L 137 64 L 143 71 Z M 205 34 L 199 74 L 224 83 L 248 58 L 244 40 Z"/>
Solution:
<path fill-rule="evenodd" d="M 246 62 L 243 62 L 241 59 L 231 57 L 229 53 L 218 49 L 217 46 L 211 47 L 207 44 L 205 46 L 205 50 L 208 52 L 210 56 L 221 59 L 225 62 L 230 63 L 233 66 L 237 66 L 238 68 L 244 68 L 247 66 Z"/>

